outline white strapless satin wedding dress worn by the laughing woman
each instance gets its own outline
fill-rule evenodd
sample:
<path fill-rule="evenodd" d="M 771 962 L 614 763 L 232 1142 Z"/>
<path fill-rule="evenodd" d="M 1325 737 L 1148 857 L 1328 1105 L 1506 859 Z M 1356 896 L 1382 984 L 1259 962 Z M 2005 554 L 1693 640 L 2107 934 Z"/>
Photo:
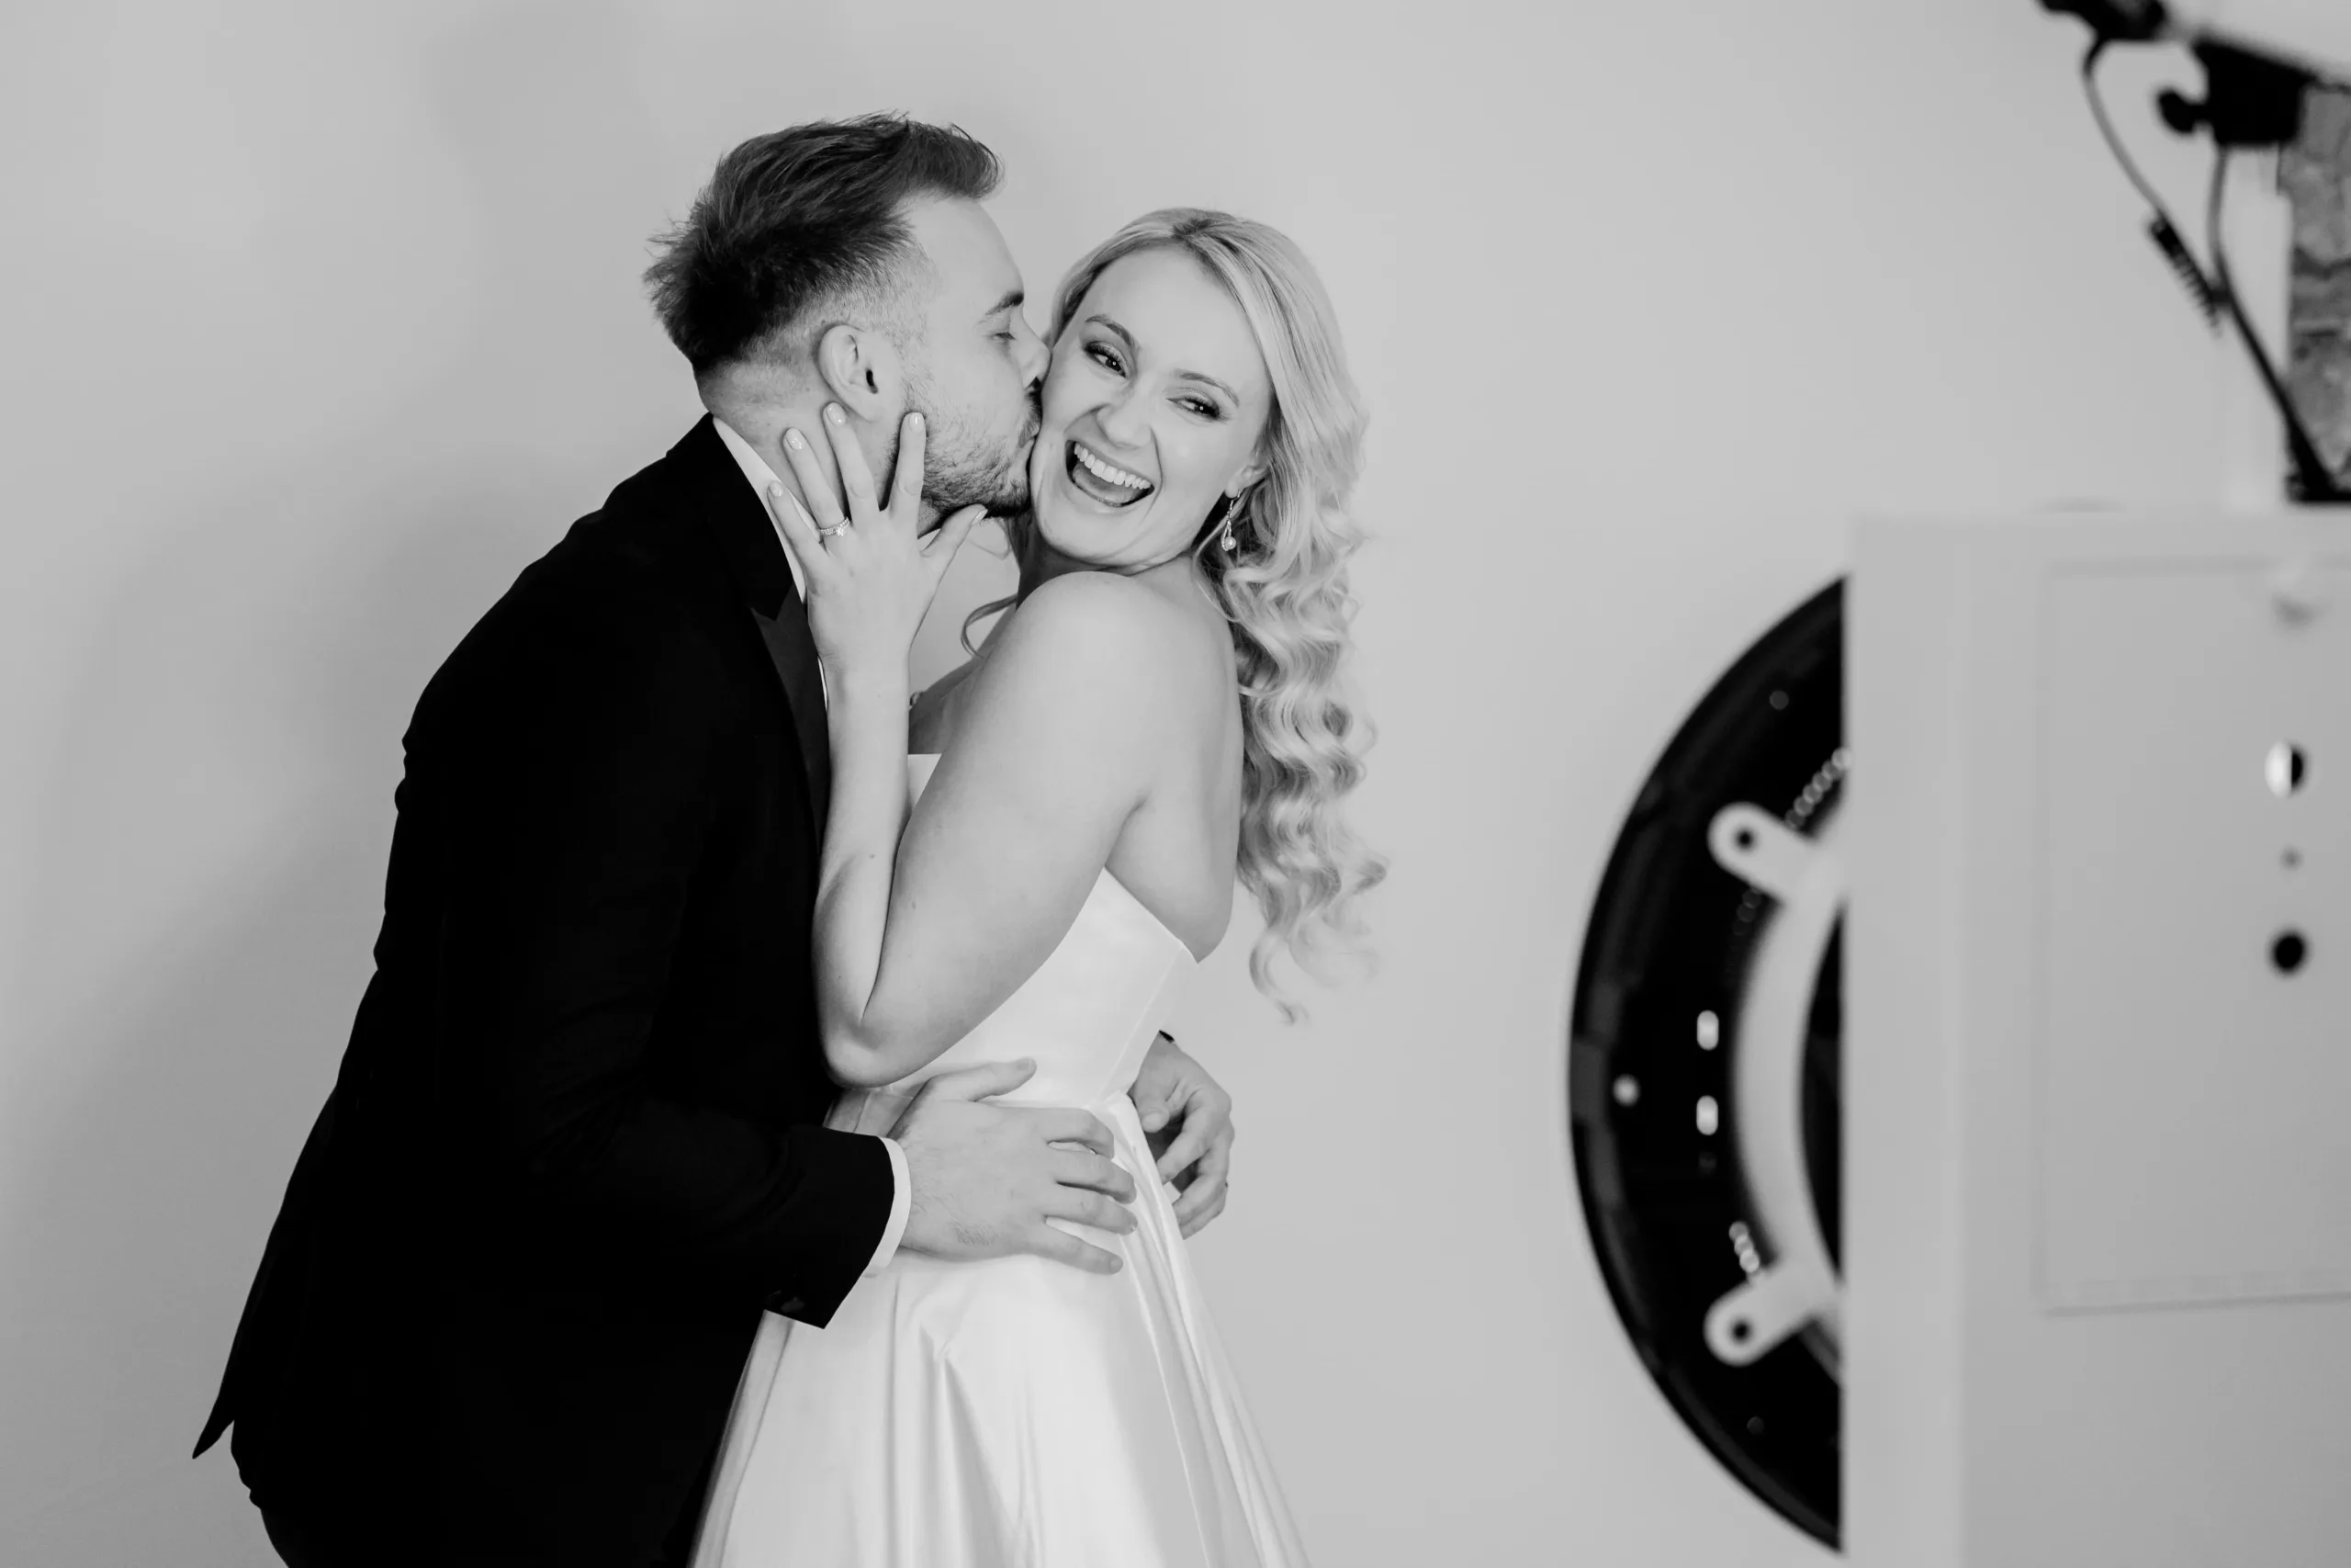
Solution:
<path fill-rule="evenodd" d="M 936 757 L 910 757 L 915 792 Z M 766 1314 L 696 1568 L 1302 1568 L 1305 1552 L 1126 1098 L 1197 964 L 1107 870 L 1060 945 L 919 1074 L 842 1095 L 889 1131 L 933 1072 L 1037 1058 L 1009 1105 L 1079 1105 L 1136 1178 L 1117 1274 L 900 1253 L 825 1328 Z"/>

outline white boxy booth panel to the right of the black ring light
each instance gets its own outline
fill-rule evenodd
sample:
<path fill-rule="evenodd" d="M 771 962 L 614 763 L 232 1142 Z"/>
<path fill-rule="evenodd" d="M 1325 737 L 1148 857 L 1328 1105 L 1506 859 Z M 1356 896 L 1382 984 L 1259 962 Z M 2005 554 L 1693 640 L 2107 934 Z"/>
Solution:
<path fill-rule="evenodd" d="M 1848 590 L 1846 1552 L 2351 1561 L 2351 531 L 1914 522 Z"/>

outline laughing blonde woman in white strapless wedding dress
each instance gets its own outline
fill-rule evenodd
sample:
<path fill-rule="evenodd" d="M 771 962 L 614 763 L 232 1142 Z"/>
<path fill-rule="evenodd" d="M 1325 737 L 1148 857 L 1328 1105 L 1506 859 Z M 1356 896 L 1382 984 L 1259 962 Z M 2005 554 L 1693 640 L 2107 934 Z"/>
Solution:
<path fill-rule="evenodd" d="M 1265 914 L 1251 976 L 1295 1018 L 1274 957 L 1312 969 L 1385 870 L 1338 816 L 1364 748 L 1340 689 L 1364 414 L 1305 256 L 1215 212 L 1084 256 L 1051 355 L 1020 590 L 912 701 L 940 543 L 973 515 L 917 541 L 917 421 L 886 505 L 837 421 L 846 505 L 816 437 L 785 437 L 813 515 L 778 487 L 778 522 L 832 682 L 830 1124 L 886 1131 L 933 1072 L 1025 1058 L 1006 1098 L 1091 1110 L 1140 1178 L 1126 1088 L 1234 877 Z M 696 1563 L 1305 1563 L 1168 1192 L 1136 1185 L 1070 1227 L 1077 1269 L 900 1253 L 823 1331 L 766 1316 Z"/>

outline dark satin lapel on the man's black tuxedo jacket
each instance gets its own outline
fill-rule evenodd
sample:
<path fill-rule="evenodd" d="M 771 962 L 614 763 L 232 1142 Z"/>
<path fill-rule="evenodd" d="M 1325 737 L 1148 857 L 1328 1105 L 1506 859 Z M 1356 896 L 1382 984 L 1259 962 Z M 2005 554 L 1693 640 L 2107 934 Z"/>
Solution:
<path fill-rule="evenodd" d="M 809 773 L 811 827 L 823 837 L 825 811 L 832 804 L 825 679 L 818 672 L 809 614 L 792 588 L 792 567 L 783 559 L 783 541 L 776 538 L 766 505 L 752 494 L 708 414 L 670 449 L 668 461 L 677 465 L 686 503 L 717 541 L 719 555 L 726 557 L 729 574 L 750 607 L 750 618 L 759 628 L 759 642 L 776 668 L 783 701 L 792 710 L 799 762 Z"/>

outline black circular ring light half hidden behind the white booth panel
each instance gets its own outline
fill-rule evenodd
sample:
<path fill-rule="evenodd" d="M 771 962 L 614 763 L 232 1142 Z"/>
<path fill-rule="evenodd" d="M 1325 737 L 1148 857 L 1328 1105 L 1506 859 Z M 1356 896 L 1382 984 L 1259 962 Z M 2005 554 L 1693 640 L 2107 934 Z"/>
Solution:
<path fill-rule="evenodd" d="M 1665 748 L 1575 976 L 1585 1222 L 1667 1401 L 1759 1497 L 1838 1537 L 1843 583 Z"/>

